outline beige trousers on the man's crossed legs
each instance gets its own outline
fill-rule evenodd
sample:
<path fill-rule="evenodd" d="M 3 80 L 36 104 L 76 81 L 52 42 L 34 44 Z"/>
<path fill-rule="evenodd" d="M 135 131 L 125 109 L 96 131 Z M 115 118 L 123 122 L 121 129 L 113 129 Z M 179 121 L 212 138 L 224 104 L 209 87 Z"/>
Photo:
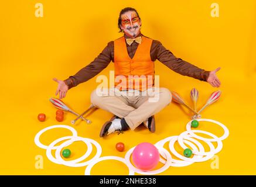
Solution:
<path fill-rule="evenodd" d="M 151 88 L 144 92 L 129 90 L 119 91 L 116 88 L 95 89 L 91 93 L 91 103 L 118 117 L 124 117 L 131 130 L 142 122 L 160 112 L 172 100 L 167 88 Z"/>

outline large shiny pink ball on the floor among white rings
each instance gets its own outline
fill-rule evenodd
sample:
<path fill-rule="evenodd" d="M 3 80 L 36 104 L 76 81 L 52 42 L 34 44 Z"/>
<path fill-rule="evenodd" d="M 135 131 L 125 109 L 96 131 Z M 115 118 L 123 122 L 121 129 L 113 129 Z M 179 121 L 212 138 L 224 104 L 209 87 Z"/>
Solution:
<path fill-rule="evenodd" d="M 160 159 L 158 149 L 151 143 L 141 143 L 134 148 L 132 160 L 136 168 L 149 171 L 158 165 Z"/>

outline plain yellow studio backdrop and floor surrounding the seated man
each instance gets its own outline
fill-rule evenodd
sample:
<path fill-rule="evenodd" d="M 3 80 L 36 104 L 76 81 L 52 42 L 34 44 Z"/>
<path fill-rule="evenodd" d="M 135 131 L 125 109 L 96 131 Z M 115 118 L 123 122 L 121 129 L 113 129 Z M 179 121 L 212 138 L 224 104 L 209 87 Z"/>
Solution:
<path fill-rule="evenodd" d="M 35 4 L 43 4 L 43 18 L 35 17 Z M 210 5 L 217 2 L 220 17 L 211 18 Z M 86 167 L 69 168 L 50 162 L 46 150 L 33 141 L 36 133 L 53 124 L 70 125 L 74 119 L 65 114 L 64 122 L 55 120 L 56 109 L 49 102 L 57 88 L 53 77 L 66 79 L 86 66 L 104 49 L 108 41 L 121 37 L 117 19 L 122 8 L 137 9 L 142 19 L 142 33 L 159 40 L 175 56 L 205 70 L 221 67 L 217 73 L 223 91 L 220 101 L 203 111 L 204 118 L 218 120 L 228 127 L 230 136 L 223 141 L 219 169 L 211 162 L 188 167 L 169 168 L 162 175 L 251 175 L 255 164 L 255 72 L 256 72 L 256 2 L 247 1 L 1 1 L 0 2 L 0 174 L 8 175 L 83 175 Z M 161 86 L 179 92 L 192 105 L 190 89 L 200 92 L 198 106 L 216 91 L 206 82 L 183 77 L 155 62 Z M 112 63 L 101 74 L 108 75 Z M 97 86 L 95 78 L 70 89 L 63 99 L 78 113 L 90 105 L 90 93 Z M 111 113 L 96 110 L 88 119 L 92 124 L 77 123 L 79 136 L 93 138 L 103 148 L 103 156 L 124 157 L 129 148 L 143 141 L 156 143 L 168 136 L 179 135 L 190 120 L 187 109 L 170 103 L 156 115 L 156 132 L 143 127 L 106 138 L 98 136 L 102 124 Z M 46 122 L 37 120 L 45 113 Z M 202 123 L 199 129 L 221 136 L 223 131 L 214 124 Z M 44 133 L 43 143 L 50 144 L 67 130 Z M 119 153 L 115 143 L 122 141 L 126 150 Z M 83 143 L 69 146 L 80 157 L 86 150 Z M 178 148 L 179 149 L 179 148 Z M 207 150 L 207 149 L 206 149 Z M 180 153 L 181 149 L 180 149 Z M 36 155 L 43 156 L 43 169 L 35 168 Z M 159 165 L 158 167 L 161 167 Z M 118 161 L 95 165 L 91 174 L 128 174 Z"/>

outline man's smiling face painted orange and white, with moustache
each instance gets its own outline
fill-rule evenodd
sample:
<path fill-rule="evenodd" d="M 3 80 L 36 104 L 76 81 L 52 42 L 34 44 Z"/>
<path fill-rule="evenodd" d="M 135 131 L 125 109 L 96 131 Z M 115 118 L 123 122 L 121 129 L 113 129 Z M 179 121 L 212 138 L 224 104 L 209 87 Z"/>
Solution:
<path fill-rule="evenodd" d="M 141 21 L 135 11 L 125 12 L 121 16 L 121 29 L 124 33 L 132 38 L 138 36 L 141 30 Z"/>

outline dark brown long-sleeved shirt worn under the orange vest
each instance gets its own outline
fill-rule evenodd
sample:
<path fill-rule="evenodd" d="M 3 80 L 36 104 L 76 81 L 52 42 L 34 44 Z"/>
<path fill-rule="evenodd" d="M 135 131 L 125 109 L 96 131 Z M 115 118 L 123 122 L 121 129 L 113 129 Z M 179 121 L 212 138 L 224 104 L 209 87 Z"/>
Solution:
<path fill-rule="evenodd" d="M 128 38 L 128 36 L 124 36 L 125 38 Z M 131 58 L 134 57 L 137 47 L 138 43 L 135 41 L 131 44 L 131 46 L 127 44 L 127 51 Z M 159 60 L 168 68 L 178 72 L 181 75 L 193 77 L 199 79 L 200 81 L 207 81 L 207 78 L 209 77 L 209 71 L 204 71 L 203 69 L 198 68 L 195 65 L 182 60 L 181 58 L 175 57 L 172 52 L 163 47 L 160 41 L 152 41 L 150 56 L 152 61 Z M 75 75 L 64 80 L 64 82 L 67 84 L 67 86 L 69 86 L 69 89 L 81 84 L 82 82 L 86 82 L 88 79 L 93 78 L 95 75 L 103 71 L 111 61 L 114 62 L 114 41 L 110 41 L 107 44 L 107 47 L 105 47 L 105 49 L 98 55 L 98 57 L 94 59 L 94 61 L 82 68 Z"/>

